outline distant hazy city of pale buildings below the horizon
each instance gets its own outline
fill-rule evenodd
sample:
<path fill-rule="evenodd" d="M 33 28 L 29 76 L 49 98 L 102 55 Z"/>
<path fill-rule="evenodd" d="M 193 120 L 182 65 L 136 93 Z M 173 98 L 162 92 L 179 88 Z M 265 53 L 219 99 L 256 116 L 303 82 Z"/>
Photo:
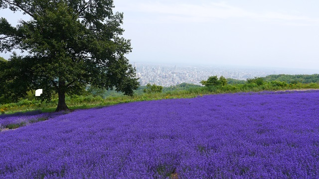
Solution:
<path fill-rule="evenodd" d="M 254 77 L 266 77 L 268 75 L 299 75 L 314 74 L 309 70 L 294 71 L 291 69 L 274 68 L 236 68 L 218 67 L 204 65 L 171 65 L 171 64 L 152 64 L 152 63 L 132 63 L 136 67 L 136 78 L 139 78 L 141 86 L 148 83 L 163 87 L 176 86 L 181 83 L 201 85 L 202 80 L 207 80 L 211 76 L 223 76 L 236 80 L 247 80 Z"/>

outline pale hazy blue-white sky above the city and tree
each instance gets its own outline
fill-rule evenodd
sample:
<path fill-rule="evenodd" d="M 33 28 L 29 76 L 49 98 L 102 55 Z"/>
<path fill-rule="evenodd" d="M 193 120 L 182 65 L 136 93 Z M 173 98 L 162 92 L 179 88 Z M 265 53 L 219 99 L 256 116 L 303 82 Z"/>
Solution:
<path fill-rule="evenodd" d="M 319 0 L 114 0 L 114 5 L 124 12 L 131 63 L 319 69 Z"/>

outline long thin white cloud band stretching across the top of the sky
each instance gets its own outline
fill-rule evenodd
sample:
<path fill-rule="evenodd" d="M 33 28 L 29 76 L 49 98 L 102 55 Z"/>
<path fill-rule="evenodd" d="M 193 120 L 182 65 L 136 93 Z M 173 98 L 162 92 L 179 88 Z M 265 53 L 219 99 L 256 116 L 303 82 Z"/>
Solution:
<path fill-rule="evenodd" d="M 226 2 L 183 3 L 148 1 L 126 4 L 125 11 L 145 13 L 144 22 L 213 22 L 218 19 L 251 19 L 254 21 L 283 22 L 289 25 L 319 25 L 319 19 L 276 11 L 249 11 Z M 123 6 L 122 6 L 123 7 Z M 154 19 L 155 16 L 155 19 Z"/>

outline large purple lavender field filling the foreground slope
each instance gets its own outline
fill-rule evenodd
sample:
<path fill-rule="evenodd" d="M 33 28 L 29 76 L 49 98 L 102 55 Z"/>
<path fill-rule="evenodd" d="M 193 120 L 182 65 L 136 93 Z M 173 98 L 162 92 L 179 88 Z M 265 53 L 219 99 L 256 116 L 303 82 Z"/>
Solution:
<path fill-rule="evenodd" d="M 312 90 L 77 110 L 0 132 L 0 179 L 319 178 L 318 106 Z"/>

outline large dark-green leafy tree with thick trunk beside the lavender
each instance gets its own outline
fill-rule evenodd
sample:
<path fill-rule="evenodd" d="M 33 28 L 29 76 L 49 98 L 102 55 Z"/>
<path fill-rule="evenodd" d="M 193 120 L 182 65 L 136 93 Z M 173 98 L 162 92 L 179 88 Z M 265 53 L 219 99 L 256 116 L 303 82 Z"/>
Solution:
<path fill-rule="evenodd" d="M 133 95 L 139 83 L 125 54 L 130 40 L 121 37 L 123 13 L 113 0 L 1 0 L 0 8 L 22 11 L 30 20 L 16 27 L 0 19 L 0 51 L 20 49 L 0 62 L 0 92 L 13 98 L 43 89 L 42 97 L 59 96 L 56 111 L 67 110 L 65 94 L 87 85 Z M 1 93 L 0 93 L 1 94 Z"/>

